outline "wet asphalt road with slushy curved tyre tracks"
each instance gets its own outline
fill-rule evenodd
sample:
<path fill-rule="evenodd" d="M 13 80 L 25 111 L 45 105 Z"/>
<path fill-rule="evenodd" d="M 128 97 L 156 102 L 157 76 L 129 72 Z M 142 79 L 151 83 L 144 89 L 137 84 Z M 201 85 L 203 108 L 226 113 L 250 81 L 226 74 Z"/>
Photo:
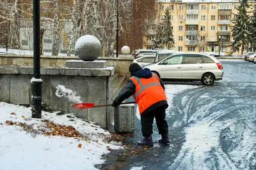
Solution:
<path fill-rule="evenodd" d="M 166 110 L 170 145 L 159 146 L 154 123 L 154 147 L 136 146 L 141 139 L 136 118 L 125 150 L 105 155 L 98 169 L 256 169 L 256 64 L 221 60 L 223 80 L 207 87 L 200 82 L 166 83 L 166 90 L 188 86 L 173 95 Z M 166 94 L 168 97 L 168 94 Z"/>

